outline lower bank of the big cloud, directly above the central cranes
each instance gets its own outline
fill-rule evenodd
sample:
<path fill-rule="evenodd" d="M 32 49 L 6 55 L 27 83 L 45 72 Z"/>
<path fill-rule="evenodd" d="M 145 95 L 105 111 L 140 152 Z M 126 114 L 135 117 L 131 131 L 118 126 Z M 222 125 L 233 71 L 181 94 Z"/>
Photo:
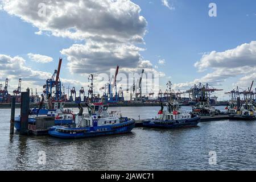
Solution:
<path fill-rule="evenodd" d="M 138 67 L 141 50 L 134 45 L 89 41 L 85 45 L 74 44 L 63 49 L 61 53 L 67 56 L 71 72 L 101 73 L 116 65 L 126 68 Z M 143 62 L 145 67 L 148 67 L 148 64 L 150 63 Z"/>

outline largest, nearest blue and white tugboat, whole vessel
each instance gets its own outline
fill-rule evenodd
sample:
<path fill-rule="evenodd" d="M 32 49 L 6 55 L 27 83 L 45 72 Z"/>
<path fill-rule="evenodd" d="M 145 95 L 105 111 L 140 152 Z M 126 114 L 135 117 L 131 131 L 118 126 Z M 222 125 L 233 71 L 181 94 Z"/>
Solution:
<path fill-rule="evenodd" d="M 87 114 L 82 114 L 83 109 L 79 104 L 79 114 L 73 125 L 53 126 L 48 133 L 57 138 L 85 138 L 102 135 L 129 133 L 135 127 L 134 119 L 118 117 L 115 112 L 109 113 L 108 105 L 103 103 L 87 104 Z"/>

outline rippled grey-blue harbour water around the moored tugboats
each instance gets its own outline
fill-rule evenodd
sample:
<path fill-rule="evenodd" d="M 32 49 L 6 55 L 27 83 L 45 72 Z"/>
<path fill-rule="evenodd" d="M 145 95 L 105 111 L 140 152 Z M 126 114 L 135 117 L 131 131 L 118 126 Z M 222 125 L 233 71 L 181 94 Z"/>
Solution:
<path fill-rule="evenodd" d="M 134 119 L 155 117 L 158 109 L 110 107 Z M 254 121 L 201 122 L 176 130 L 135 128 L 130 134 L 67 140 L 10 136 L 10 109 L 0 109 L 0 114 L 3 170 L 256 169 Z M 45 165 L 38 164 L 39 151 L 46 152 Z M 209 151 L 216 152 L 216 165 L 209 164 Z"/>

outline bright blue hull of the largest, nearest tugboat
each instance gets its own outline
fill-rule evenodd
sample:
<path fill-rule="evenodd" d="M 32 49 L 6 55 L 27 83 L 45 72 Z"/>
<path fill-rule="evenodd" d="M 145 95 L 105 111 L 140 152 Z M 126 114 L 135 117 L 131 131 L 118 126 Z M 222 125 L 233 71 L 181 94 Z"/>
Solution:
<path fill-rule="evenodd" d="M 135 127 L 135 121 L 118 123 L 109 126 L 84 127 L 84 128 L 67 128 L 61 126 L 53 126 L 48 133 L 52 137 L 75 139 L 86 137 L 99 137 L 104 135 L 129 133 Z"/>

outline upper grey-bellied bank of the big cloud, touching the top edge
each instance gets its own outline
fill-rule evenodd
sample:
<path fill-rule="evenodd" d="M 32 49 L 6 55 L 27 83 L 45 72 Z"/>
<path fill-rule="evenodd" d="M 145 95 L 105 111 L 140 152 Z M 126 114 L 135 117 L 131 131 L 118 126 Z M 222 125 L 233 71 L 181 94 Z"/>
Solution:
<path fill-rule="evenodd" d="M 42 2 L 45 17 L 38 15 Z M 72 39 L 142 39 L 147 25 L 140 7 L 128 0 L 3 0 L 3 9 L 40 31 Z"/>

